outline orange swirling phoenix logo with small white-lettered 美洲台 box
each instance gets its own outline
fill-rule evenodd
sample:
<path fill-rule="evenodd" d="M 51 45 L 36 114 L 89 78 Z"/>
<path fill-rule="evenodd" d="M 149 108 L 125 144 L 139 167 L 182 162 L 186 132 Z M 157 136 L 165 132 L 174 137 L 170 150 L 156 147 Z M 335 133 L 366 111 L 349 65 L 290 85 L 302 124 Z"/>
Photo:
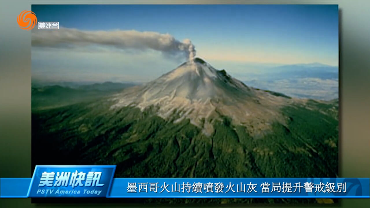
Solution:
<path fill-rule="evenodd" d="M 39 21 L 37 22 L 36 14 L 33 11 L 24 10 L 17 17 L 18 26 L 22 30 L 31 30 L 37 23 L 39 30 L 58 30 L 59 22 L 56 21 Z"/>

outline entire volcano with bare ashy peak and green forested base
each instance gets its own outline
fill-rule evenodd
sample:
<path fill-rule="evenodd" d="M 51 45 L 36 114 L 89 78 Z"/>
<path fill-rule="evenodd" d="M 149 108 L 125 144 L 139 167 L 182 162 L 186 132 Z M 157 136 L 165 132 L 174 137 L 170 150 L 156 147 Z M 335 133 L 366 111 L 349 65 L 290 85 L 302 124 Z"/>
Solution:
<path fill-rule="evenodd" d="M 111 164 L 115 177 L 336 177 L 337 111 L 335 101 L 253 88 L 194 58 L 119 93 L 33 110 L 33 165 Z"/>

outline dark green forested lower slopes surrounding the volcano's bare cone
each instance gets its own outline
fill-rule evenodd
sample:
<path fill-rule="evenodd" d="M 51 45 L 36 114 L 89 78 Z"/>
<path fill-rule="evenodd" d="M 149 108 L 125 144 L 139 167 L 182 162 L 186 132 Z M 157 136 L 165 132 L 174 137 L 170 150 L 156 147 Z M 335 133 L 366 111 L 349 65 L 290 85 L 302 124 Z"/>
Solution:
<path fill-rule="evenodd" d="M 336 177 L 337 105 L 310 101 L 282 109 L 287 125 L 251 137 L 230 118 L 207 137 L 188 120 L 174 124 L 107 100 L 32 112 L 35 164 L 117 165 L 115 177 Z M 38 154 L 37 152 L 42 152 Z M 45 157 L 47 155 L 47 157 Z M 123 200 L 124 201 L 124 200 Z M 140 202 L 312 203 L 314 199 L 140 199 Z"/>

